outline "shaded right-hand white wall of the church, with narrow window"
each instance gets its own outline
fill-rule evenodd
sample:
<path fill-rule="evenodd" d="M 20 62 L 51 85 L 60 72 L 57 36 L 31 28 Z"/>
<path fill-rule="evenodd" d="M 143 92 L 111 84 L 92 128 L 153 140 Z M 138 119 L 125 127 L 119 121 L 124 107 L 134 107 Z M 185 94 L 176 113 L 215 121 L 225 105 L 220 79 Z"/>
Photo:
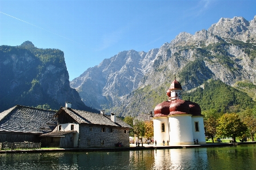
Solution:
<path fill-rule="evenodd" d="M 205 141 L 205 127 L 203 125 L 203 117 L 202 116 L 193 116 L 191 119 L 192 130 L 194 139 L 198 139 L 198 144 L 206 144 Z M 195 122 L 198 122 L 199 131 L 195 131 Z"/>

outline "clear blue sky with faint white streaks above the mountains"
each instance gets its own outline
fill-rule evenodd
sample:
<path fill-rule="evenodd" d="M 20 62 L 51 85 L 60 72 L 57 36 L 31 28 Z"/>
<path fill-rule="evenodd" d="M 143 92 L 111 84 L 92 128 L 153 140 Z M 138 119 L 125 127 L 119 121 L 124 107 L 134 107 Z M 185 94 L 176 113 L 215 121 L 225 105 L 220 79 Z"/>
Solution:
<path fill-rule="evenodd" d="M 121 51 L 149 51 L 220 18 L 252 20 L 256 1 L 2 1 L 0 45 L 61 49 L 70 80 Z"/>

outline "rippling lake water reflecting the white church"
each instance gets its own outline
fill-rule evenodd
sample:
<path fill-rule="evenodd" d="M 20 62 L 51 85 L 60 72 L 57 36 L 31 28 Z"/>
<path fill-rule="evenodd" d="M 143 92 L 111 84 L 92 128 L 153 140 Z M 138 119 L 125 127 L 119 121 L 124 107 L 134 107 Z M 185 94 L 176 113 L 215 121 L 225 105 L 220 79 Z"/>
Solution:
<path fill-rule="evenodd" d="M 0 169 L 256 169 L 256 145 L 87 154 L 0 154 Z"/>

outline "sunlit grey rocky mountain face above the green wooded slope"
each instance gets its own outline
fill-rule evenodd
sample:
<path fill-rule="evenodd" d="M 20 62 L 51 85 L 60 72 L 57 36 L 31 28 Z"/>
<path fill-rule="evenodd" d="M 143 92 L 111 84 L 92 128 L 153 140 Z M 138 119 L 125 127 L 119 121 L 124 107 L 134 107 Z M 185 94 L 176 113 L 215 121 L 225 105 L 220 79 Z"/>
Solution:
<path fill-rule="evenodd" d="M 255 85 L 255 43 L 256 16 L 251 21 L 221 18 L 208 30 L 194 35 L 182 32 L 159 49 L 120 52 L 87 69 L 70 85 L 91 107 L 119 115 L 143 113 L 159 101 L 154 101 L 153 94 L 147 98 L 138 95 L 139 90 L 160 95 L 159 90 L 166 92 L 174 74 L 185 91 L 209 79 L 231 86 L 241 80 Z"/>

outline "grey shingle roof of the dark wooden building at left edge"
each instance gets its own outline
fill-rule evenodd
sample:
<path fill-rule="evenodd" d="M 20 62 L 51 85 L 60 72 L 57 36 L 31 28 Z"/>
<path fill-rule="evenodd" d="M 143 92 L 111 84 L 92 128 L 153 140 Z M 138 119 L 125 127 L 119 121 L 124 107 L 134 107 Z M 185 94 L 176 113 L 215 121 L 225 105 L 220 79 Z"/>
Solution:
<path fill-rule="evenodd" d="M 16 105 L 0 113 L 0 131 L 46 133 L 57 125 L 55 111 Z"/>

